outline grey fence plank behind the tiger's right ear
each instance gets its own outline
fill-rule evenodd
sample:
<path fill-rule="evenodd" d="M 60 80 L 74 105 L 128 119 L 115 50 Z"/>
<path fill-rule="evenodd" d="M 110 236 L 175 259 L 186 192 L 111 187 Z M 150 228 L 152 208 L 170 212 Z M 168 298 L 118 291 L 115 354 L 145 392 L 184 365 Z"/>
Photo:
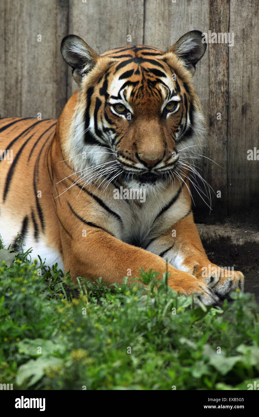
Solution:
<path fill-rule="evenodd" d="M 208 32 L 210 29 L 210 3 L 209 0 L 194 2 L 191 0 L 176 3 L 171 1 L 157 2 L 155 0 L 146 0 L 145 3 L 145 22 L 144 22 L 144 43 L 152 45 L 162 50 L 168 50 L 182 35 L 190 30 L 200 30 Z M 206 119 L 208 119 L 209 110 L 209 52 L 206 50 L 205 55 L 196 65 L 196 71 L 193 78 L 193 84 L 200 98 L 202 109 Z M 210 142 L 207 142 L 205 156 L 209 157 Z M 204 158 L 203 158 L 204 159 Z M 209 182 L 212 178 L 209 176 L 206 166 L 206 159 L 200 161 L 201 166 L 205 168 L 203 177 Z M 197 161 L 199 162 L 199 161 Z M 200 196 L 192 188 L 193 198 L 196 207 L 194 207 L 195 218 L 200 219 L 200 211 L 206 214 L 210 209 L 205 205 Z"/>

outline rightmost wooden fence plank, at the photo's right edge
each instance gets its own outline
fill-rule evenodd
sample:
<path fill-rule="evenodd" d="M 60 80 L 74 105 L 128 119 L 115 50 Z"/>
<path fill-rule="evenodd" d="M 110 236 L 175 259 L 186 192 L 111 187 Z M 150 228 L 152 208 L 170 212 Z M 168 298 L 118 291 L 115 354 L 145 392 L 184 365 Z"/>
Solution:
<path fill-rule="evenodd" d="M 247 151 L 259 149 L 259 8 L 255 1 L 230 2 L 229 127 L 227 142 L 229 213 L 254 206 L 259 213 L 259 161 Z"/>

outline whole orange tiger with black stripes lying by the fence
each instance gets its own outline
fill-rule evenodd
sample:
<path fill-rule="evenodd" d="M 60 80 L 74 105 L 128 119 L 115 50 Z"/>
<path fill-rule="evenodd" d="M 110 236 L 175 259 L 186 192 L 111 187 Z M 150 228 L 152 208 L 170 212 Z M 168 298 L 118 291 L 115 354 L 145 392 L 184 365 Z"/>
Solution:
<path fill-rule="evenodd" d="M 167 51 L 126 45 L 101 55 L 64 37 L 78 89 L 59 118 L 0 120 L 5 244 L 16 247 L 18 232 L 32 258 L 74 281 L 120 285 L 141 269 L 158 280 L 167 271 L 168 286 L 204 305 L 243 290 L 242 272 L 208 259 L 192 213 L 206 137 L 193 75 L 206 47 L 198 30 Z"/>

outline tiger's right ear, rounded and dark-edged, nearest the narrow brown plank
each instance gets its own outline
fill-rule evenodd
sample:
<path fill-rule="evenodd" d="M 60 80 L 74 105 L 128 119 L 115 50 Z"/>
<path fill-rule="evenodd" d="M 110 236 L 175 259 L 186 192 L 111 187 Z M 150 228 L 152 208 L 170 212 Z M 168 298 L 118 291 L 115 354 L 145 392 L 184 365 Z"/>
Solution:
<path fill-rule="evenodd" d="M 175 53 L 178 58 L 183 60 L 185 66 L 193 75 L 195 65 L 202 58 L 207 48 L 207 43 L 200 30 L 191 30 L 185 33 L 178 41 L 171 46 L 169 52 Z"/>

